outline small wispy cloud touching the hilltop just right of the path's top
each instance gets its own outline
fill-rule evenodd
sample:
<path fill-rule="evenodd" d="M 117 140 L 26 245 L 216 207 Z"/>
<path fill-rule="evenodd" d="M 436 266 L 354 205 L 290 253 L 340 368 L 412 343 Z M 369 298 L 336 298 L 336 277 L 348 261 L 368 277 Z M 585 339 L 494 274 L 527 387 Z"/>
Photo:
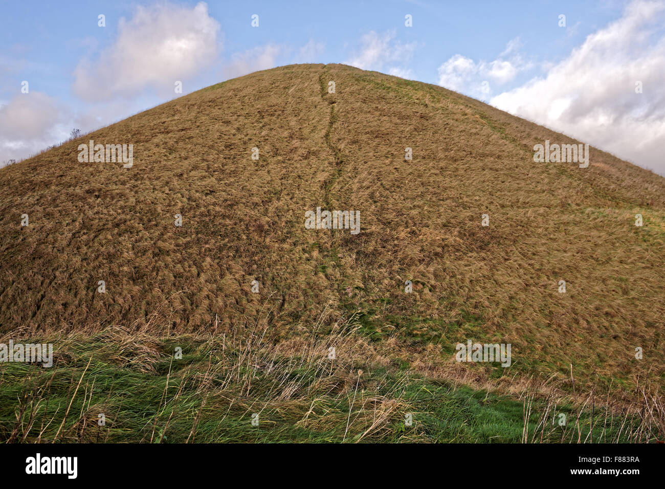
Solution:
<path fill-rule="evenodd" d="M 400 43 L 395 39 L 395 31 L 389 31 L 382 35 L 370 31 L 360 39 L 360 51 L 354 53 L 350 59 L 344 61 L 362 70 L 383 71 L 388 67 L 388 73 L 402 73 L 412 75 L 412 71 L 404 67 L 411 59 L 417 43 Z"/>

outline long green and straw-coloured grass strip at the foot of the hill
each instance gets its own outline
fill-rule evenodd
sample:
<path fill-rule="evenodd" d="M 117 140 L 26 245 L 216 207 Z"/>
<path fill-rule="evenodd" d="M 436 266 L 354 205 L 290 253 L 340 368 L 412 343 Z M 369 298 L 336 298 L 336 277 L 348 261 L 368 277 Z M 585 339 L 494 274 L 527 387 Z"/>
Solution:
<path fill-rule="evenodd" d="M 69 337 L 51 369 L 0 367 L 0 440 L 59 442 L 520 442 L 525 403 L 428 379 L 408 363 L 349 356 L 353 335 L 300 345 L 287 355 L 255 337 L 149 339 L 122 332 Z M 182 359 L 174 359 L 176 347 Z M 358 371 L 362 371 L 359 373 Z M 533 401 L 528 441 L 583 439 Z M 575 418 L 571 405 L 557 408 Z M 98 414 L 106 419 L 98 425 Z M 251 423 L 259 414 L 258 426 Z M 412 424 L 408 426 L 406 416 Z M 547 416 L 541 426 L 541 420 Z M 572 417 L 571 417 L 572 416 Z M 599 414 L 596 412 L 598 418 Z M 632 424 L 630 424 L 632 423 Z M 630 423 L 634 425 L 634 420 Z M 626 423 L 624 422 L 624 425 Z M 618 422 L 615 423 L 618 428 Z M 638 425 L 636 425 L 638 426 Z M 628 432 L 604 438 L 626 441 Z M 598 430 L 597 430 L 598 431 Z M 533 436 L 533 435 L 531 435 Z M 600 432 L 597 433 L 600 436 Z"/>

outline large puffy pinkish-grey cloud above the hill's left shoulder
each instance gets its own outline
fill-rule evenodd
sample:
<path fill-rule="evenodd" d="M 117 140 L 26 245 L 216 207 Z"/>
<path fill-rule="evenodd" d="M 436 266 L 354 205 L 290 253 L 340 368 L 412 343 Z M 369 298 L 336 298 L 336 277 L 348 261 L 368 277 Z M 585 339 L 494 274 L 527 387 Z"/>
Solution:
<path fill-rule="evenodd" d="M 217 57 L 219 23 L 207 5 L 194 8 L 161 3 L 137 7 L 120 19 L 114 44 L 96 61 L 74 70 L 74 93 L 85 100 L 132 98 L 147 86 L 173 90 L 175 81 L 196 75 Z"/>

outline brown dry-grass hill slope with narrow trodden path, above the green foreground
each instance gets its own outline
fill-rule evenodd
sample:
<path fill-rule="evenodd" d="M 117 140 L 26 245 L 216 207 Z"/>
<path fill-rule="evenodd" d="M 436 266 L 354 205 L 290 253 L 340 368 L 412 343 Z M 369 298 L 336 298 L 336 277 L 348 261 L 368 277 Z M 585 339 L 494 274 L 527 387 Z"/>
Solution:
<path fill-rule="evenodd" d="M 134 144 L 132 168 L 78 162 L 90 139 Z M 594 148 L 589 168 L 535 163 L 545 140 L 575 142 L 343 65 L 210 86 L 0 170 L 0 332 L 353 318 L 414 355 L 491 340 L 518 373 L 662 381 L 665 179 Z M 360 232 L 306 229 L 317 206 Z"/>

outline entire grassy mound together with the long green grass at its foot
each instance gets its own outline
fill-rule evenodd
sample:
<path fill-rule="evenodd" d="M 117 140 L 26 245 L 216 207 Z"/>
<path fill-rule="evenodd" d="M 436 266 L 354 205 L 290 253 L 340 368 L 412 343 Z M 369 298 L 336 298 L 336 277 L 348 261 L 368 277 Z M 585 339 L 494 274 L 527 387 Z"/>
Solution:
<path fill-rule="evenodd" d="M 90 139 L 133 144 L 132 168 L 79 162 Z M 0 439 L 520 441 L 555 391 L 571 412 L 626 399 L 629 425 L 665 380 L 665 179 L 595 148 L 535 163 L 545 140 L 577 143 L 438 86 L 293 65 L 0 169 L 0 342 L 56 350 L 52 371 L 0 365 Z M 306 229 L 317 207 L 360 232 Z M 511 367 L 456 363 L 467 339 L 511 343 Z M 662 439 L 662 416 L 616 439 Z"/>

